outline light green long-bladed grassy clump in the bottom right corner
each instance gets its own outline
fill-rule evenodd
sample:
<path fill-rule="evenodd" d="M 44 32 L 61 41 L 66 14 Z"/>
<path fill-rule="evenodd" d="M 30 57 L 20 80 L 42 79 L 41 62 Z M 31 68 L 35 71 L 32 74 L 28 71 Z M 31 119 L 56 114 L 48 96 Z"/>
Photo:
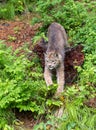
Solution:
<path fill-rule="evenodd" d="M 91 110 L 90 108 L 80 108 L 80 106 L 75 106 L 74 103 L 66 102 L 66 109 L 64 110 L 64 114 L 62 118 L 56 118 L 54 116 L 50 116 L 49 120 L 44 123 L 34 127 L 34 130 L 88 130 L 88 129 L 96 129 L 96 111 Z"/>

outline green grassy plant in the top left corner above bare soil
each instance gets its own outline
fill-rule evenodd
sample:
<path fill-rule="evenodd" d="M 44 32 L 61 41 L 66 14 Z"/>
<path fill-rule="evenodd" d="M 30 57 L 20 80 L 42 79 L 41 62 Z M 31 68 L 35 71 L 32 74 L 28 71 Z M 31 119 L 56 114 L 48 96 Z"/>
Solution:
<path fill-rule="evenodd" d="M 26 0 L 7 0 L 0 4 L 0 19 L 13 20 L 16 15 L 29 11 Z"/>

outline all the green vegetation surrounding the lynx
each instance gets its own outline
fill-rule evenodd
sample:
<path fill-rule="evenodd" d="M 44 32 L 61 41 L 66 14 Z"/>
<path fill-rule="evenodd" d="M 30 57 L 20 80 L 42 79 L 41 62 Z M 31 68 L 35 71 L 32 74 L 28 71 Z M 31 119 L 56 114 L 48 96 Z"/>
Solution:
<path fill-rule="evenodd" d="M 89 108 L 84 101 L 96 96 L 96 2 L 95 0 L 6 0 L 0 4 L 0 19 L 15 19 L 16 15 L 36 14 L 31 22 L 42 23 L 37 40 L 46 33 L 49 24 L 56 21 L 64 26 L 69 43 L 84 46 L 85 61 L 77 67 L 74 85 L 66 86 L 64 99 L 52 95 L 56 85 L 46 88 L 43 70 L 38 57 L 27 59 L 30 51 L 17 57 L 0 41 L 0 129 L 13 130 L 16 118 L 13 109 L 32 111 L 35 116 L 45 116 L 34 130 L 95 130 L 96 108 Z M 64 106 L 60 119 L 53 116 L 56 107 Z"/>

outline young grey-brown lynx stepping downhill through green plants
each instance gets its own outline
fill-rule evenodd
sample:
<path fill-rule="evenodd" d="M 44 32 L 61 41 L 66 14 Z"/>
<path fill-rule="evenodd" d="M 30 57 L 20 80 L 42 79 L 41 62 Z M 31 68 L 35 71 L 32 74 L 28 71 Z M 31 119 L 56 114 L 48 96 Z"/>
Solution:
<path fill-rule="evenodd" d="M 65 84 L 65 47 L 69 47 L 65 29 L 60 24 L 54 22 L 48 28 L 48 47 L 45 54 L 44 78 L 47 86 L 52 85 L 52 70 L 56 70 L 58 83 L 56 95 L 63 92 Z"/>

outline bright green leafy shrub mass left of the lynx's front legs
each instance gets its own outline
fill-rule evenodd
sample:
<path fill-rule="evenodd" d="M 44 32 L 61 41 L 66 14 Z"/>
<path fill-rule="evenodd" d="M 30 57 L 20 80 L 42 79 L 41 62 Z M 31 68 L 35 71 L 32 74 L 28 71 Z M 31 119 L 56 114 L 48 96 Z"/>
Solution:
<path fill-rule="evenodd" d="M 57 86 L 46 87 L 38 57 L 32 53 L 30 61 L 29 51 L 26 50 L 24 54 L 19 54 L 20 50 L 13 52 L 0 41 L 0 113 L 3 110 L 3 116 L 0 115 L 1 128 L 13 121 L 10 116 L 6 118 L 8 110 L 9 115 L 12 109 L 41 115 L 48 114 L 50 106 L 61 105 L 60 101 L 51 99 Z"/>

